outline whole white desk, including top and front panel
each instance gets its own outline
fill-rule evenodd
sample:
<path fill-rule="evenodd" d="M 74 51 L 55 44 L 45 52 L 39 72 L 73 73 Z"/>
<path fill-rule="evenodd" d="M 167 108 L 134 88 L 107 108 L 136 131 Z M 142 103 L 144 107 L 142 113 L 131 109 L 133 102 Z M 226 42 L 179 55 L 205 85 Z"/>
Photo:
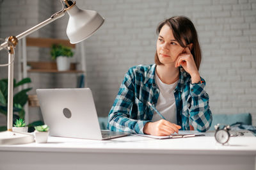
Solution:
<path fill-rule="evenodd" d="M 213 134 L 186 139 L 138 135 L 109 141 L 49 137 L 45 144 L 0 146 L 0 169 L 237 169 L 255 170 L 256 137 Z"/>

